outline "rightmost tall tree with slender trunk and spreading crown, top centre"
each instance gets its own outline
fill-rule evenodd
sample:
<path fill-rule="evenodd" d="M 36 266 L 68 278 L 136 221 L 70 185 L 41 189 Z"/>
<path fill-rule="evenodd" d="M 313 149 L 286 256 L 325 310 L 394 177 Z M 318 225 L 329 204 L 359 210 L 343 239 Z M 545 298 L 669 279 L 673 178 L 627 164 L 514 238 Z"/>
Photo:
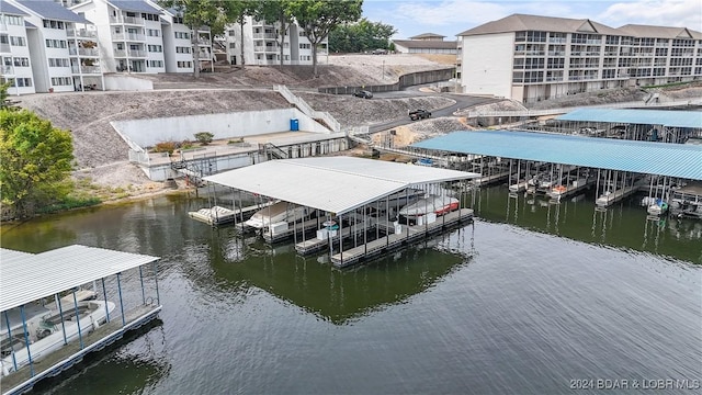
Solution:
<path fill-rule="evenodd" d="M 317 46 L 336 26 L 361 18 L 363 0 L 293 0 L 288 4 L 291 14 L 303 29 L 312 44 L 312 65 L 317 72 Z"/>

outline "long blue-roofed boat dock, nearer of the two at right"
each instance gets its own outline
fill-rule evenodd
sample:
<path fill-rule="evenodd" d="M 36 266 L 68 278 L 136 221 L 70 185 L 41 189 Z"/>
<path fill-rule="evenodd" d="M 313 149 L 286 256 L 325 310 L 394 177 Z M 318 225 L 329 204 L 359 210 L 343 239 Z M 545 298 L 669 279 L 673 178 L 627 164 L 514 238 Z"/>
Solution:
<path fill-rule="evenodd" d="M 663 198 L 663 191 L 672 191 L 672 187 L 690 180 L 702 180 L 702 146 L 699 145 L 535 132 L 462 131 L 427 139 L 412 147 L 501 158 L 502 161 L 509 158 L 509 184 L 516 191 L 520 185 L 528 187 L 524 182 L 531 176 L 530 166 L 531 170 L 544 163 L 552 163 L 559 170 L 566 167 L 590 169 L 586 178 L 579 172 L 568 178 L 566 172 L 559 171 L 554 178 L 558 183 L 551 187 L 567 192 L 584 182 L 592 184 L 597 198 L 603 198 L 598 201 L 599 206 L 607 206 L 618 201 L 615 198 L 646 188 L 649 196 L 659 198 L 660 194 Z M 550 172 L 553 174 L 554 169 Z M 648 177 L 647 184 L 641 182 L 642 177 Z"/>

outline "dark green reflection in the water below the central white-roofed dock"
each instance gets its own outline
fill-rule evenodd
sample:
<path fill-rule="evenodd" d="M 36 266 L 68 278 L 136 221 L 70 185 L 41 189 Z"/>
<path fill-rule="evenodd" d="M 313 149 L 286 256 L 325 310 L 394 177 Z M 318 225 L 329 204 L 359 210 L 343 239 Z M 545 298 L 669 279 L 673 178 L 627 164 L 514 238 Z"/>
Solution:
<path fill-rule="evenodd" d="M 337 270 L 325 253 L 301 257 L 291 244 L 270 246 L 254 237 L 220 232 L 224 235 L 213 233 L 210 245 L 214 283 L 253 285 L 333 324 L 403 303 L 468 261 L 469 252 L 458 251 L 473 248 L 469 225 L 369 263 Z"/>

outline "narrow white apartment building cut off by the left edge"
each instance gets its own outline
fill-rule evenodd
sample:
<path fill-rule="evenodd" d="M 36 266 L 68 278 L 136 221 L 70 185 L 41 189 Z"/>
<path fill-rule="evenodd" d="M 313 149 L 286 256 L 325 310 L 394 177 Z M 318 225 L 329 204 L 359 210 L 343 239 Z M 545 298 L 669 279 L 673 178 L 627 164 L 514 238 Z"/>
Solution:
<path fill-rule="evenodd" d="M 25 16 L 26 12 L 0 0 L 0 82 L 12 81 L 10 94 L 35 92 Z"/>

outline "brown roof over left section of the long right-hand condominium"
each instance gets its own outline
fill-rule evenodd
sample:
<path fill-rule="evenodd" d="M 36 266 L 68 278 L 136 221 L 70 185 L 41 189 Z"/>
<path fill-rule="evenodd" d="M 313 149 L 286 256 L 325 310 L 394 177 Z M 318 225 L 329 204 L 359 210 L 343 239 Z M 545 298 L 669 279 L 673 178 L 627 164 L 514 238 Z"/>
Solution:
<path fill-rule="evenodd" d="M 561 33 L 596 33 L 622 35 L 616 29 L 603 25 L 589 19 L 568 19 L 541 15 L 512 14 L 501 20 L 488 22 L 469 29 L 457 35 L 472 36 L 521 31 L 561 32 Z"/>

